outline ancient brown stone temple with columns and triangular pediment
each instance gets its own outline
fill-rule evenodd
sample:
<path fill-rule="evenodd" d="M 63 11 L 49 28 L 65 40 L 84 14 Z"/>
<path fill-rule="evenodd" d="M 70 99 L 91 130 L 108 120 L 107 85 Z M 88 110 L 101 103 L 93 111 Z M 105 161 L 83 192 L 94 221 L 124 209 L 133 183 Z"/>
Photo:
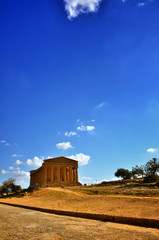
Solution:
<path fill-rule="evenodd" d="M 80 185 L 78 161 L 66 157 L 44 160 L 42 166 L 30 171 L 30 187 Z"/>

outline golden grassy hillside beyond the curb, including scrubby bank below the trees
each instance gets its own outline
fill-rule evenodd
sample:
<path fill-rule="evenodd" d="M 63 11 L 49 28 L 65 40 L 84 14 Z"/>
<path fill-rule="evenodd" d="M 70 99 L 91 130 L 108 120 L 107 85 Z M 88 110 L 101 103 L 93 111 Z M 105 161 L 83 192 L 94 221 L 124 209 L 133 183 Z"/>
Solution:
<path fill-rule="evenodd" d="M 23 198 L 6 198 L 1 199 L 1 202 L 65 211 L 159 219 L 159 189 L 124 190 L 120 189 L 120 186 L 121 184 L 113 187 L 41 188 Z M 148 198 L 149 194 L 151 197 Z"/>

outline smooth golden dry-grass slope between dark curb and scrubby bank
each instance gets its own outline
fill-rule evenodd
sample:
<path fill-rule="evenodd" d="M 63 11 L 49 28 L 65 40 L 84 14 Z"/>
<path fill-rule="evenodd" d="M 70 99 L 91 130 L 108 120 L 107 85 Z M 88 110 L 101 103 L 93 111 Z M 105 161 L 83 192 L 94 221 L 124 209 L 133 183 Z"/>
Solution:
<path fill-rule="evenodd" d="M 0 201 L 57 210 L 159 219 L 159 197 L 88 195 L 79 190 L 41 188 L 24 197 Z"/>

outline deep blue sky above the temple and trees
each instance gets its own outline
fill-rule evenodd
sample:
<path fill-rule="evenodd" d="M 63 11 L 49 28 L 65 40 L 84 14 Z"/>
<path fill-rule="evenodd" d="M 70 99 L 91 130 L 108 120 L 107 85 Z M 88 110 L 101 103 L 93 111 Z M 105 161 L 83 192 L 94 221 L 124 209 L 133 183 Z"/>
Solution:
<path fill-rule="evenodd" d="M 92 183 L 159 156 L 159 2 L 142 3 L 69 20 L 63 0 L 0 1 L 0 183 L 27 186 L 35 156 L 90 156 Z"/>

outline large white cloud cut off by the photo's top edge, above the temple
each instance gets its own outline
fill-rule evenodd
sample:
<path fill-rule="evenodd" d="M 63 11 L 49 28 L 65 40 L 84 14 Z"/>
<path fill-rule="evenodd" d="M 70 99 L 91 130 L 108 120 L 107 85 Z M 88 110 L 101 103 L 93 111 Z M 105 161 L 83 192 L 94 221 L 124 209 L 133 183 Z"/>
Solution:
<path fill-rule="evenodd" d="M 102 0 L 64 0 L 68 18 L 72 19 L 79 14 L 96 12 Z"/>

